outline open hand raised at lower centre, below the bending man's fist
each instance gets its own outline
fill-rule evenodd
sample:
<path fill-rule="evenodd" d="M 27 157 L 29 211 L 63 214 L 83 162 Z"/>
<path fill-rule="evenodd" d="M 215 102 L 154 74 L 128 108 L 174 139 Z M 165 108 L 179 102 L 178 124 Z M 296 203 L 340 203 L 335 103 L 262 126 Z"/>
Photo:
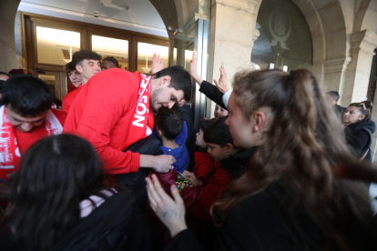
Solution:
<path fill-rule="evenodd" d="M 176 185 L 170 186 L 173 199 L 165 193 L 161 187 L 158 177 L 148 177 L 147 191 L 150 207 L 155 211 L 158 218 L 168 227 L 171 237 L 176 236 L 180 231 L 188 228 L 185 221 L 185 204 L 179 195 Z"/>

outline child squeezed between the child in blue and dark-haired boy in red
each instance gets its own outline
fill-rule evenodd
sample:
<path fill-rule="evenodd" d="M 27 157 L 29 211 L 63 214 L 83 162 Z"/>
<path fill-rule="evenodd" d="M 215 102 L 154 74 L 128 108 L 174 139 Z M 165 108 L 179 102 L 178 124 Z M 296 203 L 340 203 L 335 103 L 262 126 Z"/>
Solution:
<path fill-rule="evenodd" d="M 202 120 L 199 122 L 199 132 L 197 133 L 195 145 L 200 148 L 195 152 L 195 166 L 193 169 L 193 173 L 197 177 L 207 176 L 215 164 L 215 160 L 209 154 L 208 147 L 203 139 L 204 132 L 211 123 L 212 120 Z"/>

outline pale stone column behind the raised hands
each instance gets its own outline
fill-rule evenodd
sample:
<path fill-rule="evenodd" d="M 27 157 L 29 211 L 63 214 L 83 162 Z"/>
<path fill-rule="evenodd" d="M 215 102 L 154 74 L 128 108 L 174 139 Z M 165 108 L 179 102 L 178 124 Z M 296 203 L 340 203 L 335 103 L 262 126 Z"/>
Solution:
<path fill-rule="evenodd" d="M 221 64 L 227 70 L 229 86 L 237 72 L 250 70 L 251 50 L 258 37 L 254 31 L 260 2 L 261 0 L 212 0 L 209 82 L 214 78 L 219 79 Z M 214 105 L 207 104 L 207 107 L 207 116 L 213 116 Z"/>

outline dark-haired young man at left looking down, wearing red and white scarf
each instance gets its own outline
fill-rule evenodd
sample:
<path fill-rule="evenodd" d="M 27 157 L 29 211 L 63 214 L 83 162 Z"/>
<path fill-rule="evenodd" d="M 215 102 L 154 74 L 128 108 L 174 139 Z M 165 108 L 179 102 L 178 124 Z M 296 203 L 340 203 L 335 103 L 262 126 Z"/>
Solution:
<path fill-rule="evenodd" d="M 0 107 L 0 177 L 17 170 L 20 157 L 37 140 L 61 134 L 66 113 L 51 108 L 54 94 L 46 83 L 29 75 L 16 75 L 5 83 Z"/>

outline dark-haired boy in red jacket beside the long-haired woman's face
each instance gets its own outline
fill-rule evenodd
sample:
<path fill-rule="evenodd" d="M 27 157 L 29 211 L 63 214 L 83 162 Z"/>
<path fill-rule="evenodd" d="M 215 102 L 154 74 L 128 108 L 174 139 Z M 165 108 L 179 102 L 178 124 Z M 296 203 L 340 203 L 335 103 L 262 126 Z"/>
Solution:
<path fill-rule="evenodd" d="M 232 173 L 242 164 L 235 154 L 238 149 L 233 145 L 233 138 L 230 136 L 229 126 L 225 125 L 228 116 L 219 117 L 204 132 L 204 141 L 209 146 L 209 154 L 216 161 L 211 172 L 207 176 L 197 178 L 193 173 L 183 172 L 183 175 L 201 190 L 197 195 L 198 201 L 189 207 L 188 212 L 203 222 L 209 220 L 209 209 L 227 189 Z"/>

